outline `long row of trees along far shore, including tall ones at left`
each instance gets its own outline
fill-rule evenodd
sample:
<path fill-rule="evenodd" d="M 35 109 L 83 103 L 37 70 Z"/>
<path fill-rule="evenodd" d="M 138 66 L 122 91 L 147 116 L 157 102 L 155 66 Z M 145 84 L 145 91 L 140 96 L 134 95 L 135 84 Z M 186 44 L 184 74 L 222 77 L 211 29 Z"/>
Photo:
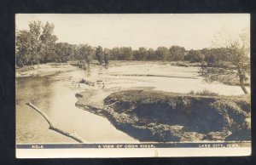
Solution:
<path fill-rule="evenodd" d="M 16 31 L 16 65 L 35 65 L 49 62 L 67 62 L 68 60 L 98 60 L 108 65 L 109 60 L 168 60 L 202 62 L 228 60 L 225 48 L 203 48 L 201 50 L 186 50 L 180 46 L 170 48 L 159 47 L 138 48 L 92 47 L 88 44 L 57 43 L 58 38 L 53 34 L 54 25 L 41 21 L 29 24 L 29 30 Z"/>

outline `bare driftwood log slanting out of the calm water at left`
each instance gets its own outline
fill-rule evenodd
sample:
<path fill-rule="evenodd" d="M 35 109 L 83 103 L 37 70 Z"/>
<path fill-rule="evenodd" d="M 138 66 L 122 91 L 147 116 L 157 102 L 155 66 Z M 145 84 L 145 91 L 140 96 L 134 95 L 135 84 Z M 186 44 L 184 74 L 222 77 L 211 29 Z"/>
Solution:
<path fill-rule="evenodd" d="M 79 143 L 84 143 L 84 139 L 82 139 L 81 137 L 79 137 L 78 134 L 75 134 L 74 132 L 73 132 L 73 134 L 70 134 L 70 133 L 68 133 L 67 131 L 62 130 L 61 128 L 56 128 L 55 125 L 50 121 L 49 117 L 44 113 L 44 111 L 39 110 L 38 107 L 35 106 L 35 105 L 32 105 L 31 102 L 28 101 L 28 102 L 26 103 L 26 105 L 32 107 L 35 111 L 38 111 L 38 113 L 44 117 L 44 119 L 46 120 L 46 122 L 49 123 L 49 129 L 54 130 L 55 132 L 57 132 L 57 133 L 59 133 L 59 134 L 63 134 L 63 135 L 65 135 L 65 136 L 69 137 L 69 138 L 75 139 L 75 140 L 77 140 Z"/>

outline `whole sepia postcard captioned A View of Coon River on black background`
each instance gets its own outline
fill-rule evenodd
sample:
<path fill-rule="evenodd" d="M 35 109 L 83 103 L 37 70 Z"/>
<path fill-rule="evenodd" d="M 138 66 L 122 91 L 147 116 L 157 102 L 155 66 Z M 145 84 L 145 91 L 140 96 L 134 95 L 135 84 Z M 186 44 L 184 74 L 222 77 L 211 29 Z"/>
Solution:
<path fill-rule="evenodd" d="M 16 157 L 249 156 L 250 56 L 250 14 L 15 14 Z"/>

